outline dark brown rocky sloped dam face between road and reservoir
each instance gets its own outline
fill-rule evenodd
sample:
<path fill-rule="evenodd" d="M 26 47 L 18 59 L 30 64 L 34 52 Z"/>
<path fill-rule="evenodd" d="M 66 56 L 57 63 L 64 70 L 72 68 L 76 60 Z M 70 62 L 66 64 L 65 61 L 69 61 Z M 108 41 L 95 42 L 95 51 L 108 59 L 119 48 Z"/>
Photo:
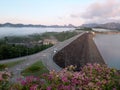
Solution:
<path fill-rule="evenodd" d="M 54 62 L 64 68 L 77 65 L 78 69 L 87 63 L 105 64 L 94 41 L 92 33 L 85 33 L 68 46 L 64 47 L 53 57 Z"/>

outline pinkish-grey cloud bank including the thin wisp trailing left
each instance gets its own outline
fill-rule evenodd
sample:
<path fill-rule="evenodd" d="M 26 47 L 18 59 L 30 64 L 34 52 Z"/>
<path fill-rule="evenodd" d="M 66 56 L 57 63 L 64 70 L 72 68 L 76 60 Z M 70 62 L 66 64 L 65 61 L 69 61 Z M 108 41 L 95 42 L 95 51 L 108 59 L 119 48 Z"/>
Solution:
<path fill-rule="evenodd" d="M 85 22 L 118 22 L 120 20 L 120 1 L 103 0 L 103 2 L 92 3 L 85 12 L 71 14 L 71 18 L 82 18 Z M 119 21 L 120 22 L 120 21 Z"/>

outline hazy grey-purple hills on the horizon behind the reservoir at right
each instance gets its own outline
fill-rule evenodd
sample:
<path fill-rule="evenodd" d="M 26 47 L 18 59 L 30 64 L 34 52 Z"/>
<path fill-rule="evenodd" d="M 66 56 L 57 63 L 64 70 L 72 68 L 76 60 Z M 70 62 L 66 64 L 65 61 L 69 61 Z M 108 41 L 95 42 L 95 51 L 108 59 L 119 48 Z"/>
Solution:
<path fill-rule="evenodd" d="M 105 24 L 83 24 L 81 27 L 120 30 L 120 23 L 111 22 Z"/>

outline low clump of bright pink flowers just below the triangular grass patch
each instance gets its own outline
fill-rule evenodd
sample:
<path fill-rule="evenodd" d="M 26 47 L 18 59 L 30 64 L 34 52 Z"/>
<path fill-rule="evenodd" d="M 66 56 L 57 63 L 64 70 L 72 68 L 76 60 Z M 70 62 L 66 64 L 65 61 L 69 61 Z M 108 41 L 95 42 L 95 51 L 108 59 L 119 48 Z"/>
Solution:
<path fill-rule="evenodd" d="M 43 81 L 34 76 L 27 76 L 26 78 L 18 79 L 19 84 L 14 84 L 11 88 L 12 90 L 42 90 L 43 89 Z"/>

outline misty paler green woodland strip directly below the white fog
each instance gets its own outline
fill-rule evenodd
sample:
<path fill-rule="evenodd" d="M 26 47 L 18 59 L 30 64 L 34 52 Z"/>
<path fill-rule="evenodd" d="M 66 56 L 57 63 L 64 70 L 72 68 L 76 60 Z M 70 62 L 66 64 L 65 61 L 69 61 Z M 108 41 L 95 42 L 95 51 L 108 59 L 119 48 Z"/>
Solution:
<path fill-rule="evenodd" d="M 51 36 L 55 37 L 58 41 L 64 41 L 66 39 L 69 39 L 73 36 L 77 35 L 77 32 L 75 31 L 63 31 L 63 32 L 45 32 L 42 34 L 33 34 L 29 36 L 8 36 L 0 41 L 8 42 L 8 43 L 22 43 L 22 42 L 31 42 L 31 41 L 39 41 L 46 38 L 51 38 Z"/>

